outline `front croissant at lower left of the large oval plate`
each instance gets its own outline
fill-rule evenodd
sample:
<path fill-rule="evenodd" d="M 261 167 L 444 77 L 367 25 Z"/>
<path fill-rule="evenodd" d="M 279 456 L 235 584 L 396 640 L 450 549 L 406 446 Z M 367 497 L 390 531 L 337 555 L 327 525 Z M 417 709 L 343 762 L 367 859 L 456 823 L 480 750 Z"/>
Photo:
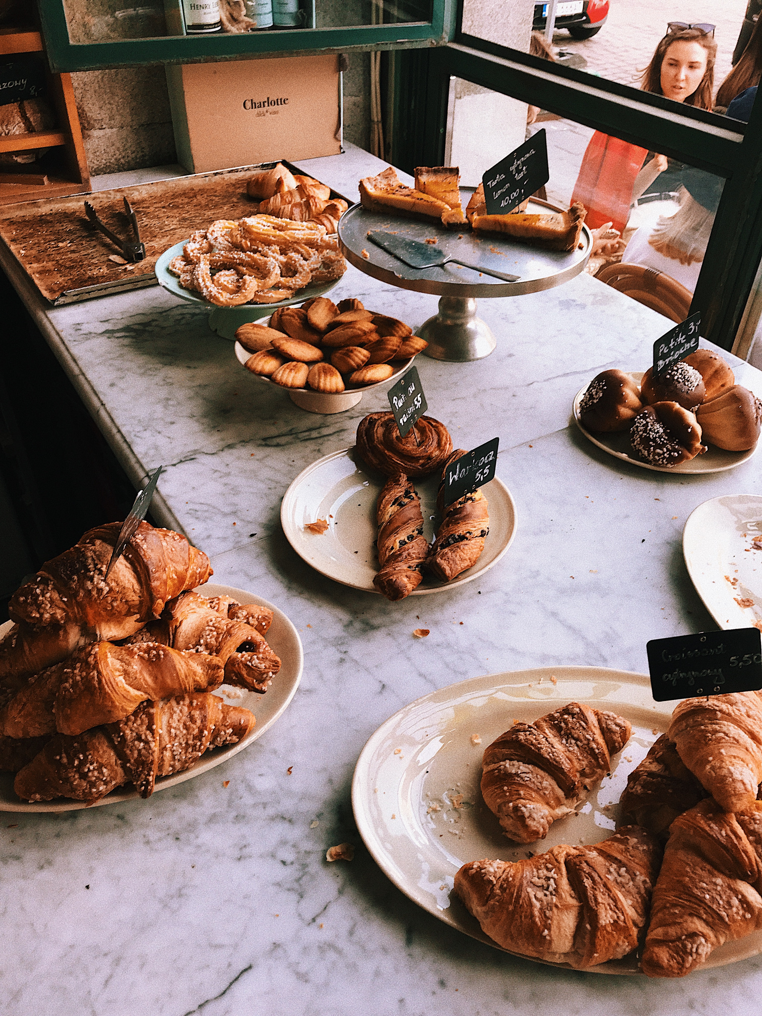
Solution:
<path fill-rule="evenodd" d="M 554 846 L 528 861 L 473 861 L 454 891 L 498 945 L 585 968 L 638 947 L 660 850 L 639 826 L 593 846 Z"/>

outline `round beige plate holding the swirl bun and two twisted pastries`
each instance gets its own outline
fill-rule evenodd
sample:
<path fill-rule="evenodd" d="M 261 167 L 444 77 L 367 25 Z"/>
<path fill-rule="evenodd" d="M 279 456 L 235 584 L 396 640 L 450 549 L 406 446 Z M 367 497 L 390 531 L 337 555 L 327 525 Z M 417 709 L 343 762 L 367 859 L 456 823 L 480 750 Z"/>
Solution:
<path fill-rule="evenodd" d="M 424 514 L 424 535 L 430 543 L 438 521 L 438 483 L 436 474 L 416 481 Z M 373 578 L 378 571 L 376 500 L 382 486 L 379 477 L 355 461 L 354 448 L 319 458 L 300 472 L 285 492 L 280 506 L 280 523 L 287 539 L 321 575 L 354 589 L 378 592 Z M 475 565 L 452 582 L 426 577 L 411 595 L 438 592 L 470 582 L 497 564 L 508 550 L 516 532 L 513 498 L 497 478 L 483 491 L 490 506 L 490 534 Z M 326 532 L 318 535 L 305 529 L 308 522 L 319 518 L 328 522 Z"/>

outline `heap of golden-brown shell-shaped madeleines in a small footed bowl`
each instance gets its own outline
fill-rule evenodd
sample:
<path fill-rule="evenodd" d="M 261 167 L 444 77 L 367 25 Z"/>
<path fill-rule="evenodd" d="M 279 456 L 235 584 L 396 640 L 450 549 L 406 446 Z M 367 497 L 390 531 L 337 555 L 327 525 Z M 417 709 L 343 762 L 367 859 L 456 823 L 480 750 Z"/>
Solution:
<path fill-rule="evenodd" d="M 341 303 L 316 297 L 278 309 L 269 324 L 241 325 L 236 339 L 252 354 L 246 369 L 283 388 L 338 394 L 388 380 L 429 344 L 412 342 L 409 325 L 367 311 L 360 300 Z"/>

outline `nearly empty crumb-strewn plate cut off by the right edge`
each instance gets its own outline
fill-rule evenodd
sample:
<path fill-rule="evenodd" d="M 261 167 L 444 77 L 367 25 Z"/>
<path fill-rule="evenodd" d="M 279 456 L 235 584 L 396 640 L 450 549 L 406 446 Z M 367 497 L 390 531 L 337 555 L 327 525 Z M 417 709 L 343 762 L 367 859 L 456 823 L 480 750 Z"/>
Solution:
<path fill-rule="evenodd" d="M 762 497 L 704 501 L 683 529 L 683 557 L 704 606 L 724 628 L 762 628 Z M 747 607 L 739 600 L 751 600 Z"/>

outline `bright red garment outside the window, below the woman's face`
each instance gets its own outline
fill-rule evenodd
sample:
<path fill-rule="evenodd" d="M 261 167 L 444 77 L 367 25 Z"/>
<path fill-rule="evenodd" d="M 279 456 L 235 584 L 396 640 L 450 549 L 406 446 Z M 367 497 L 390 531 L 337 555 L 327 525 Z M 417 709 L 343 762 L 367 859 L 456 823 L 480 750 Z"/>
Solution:
<path fill-rule="evenodd" d="M 595 230 L 612 223 L 615 230 L 624 231 L 635 178 L 647 154 L 647 148 L 595 131 L 585 148 L 572 195 L 572 201 L 581 201 L 587 209 L 585 226 Z"/>

